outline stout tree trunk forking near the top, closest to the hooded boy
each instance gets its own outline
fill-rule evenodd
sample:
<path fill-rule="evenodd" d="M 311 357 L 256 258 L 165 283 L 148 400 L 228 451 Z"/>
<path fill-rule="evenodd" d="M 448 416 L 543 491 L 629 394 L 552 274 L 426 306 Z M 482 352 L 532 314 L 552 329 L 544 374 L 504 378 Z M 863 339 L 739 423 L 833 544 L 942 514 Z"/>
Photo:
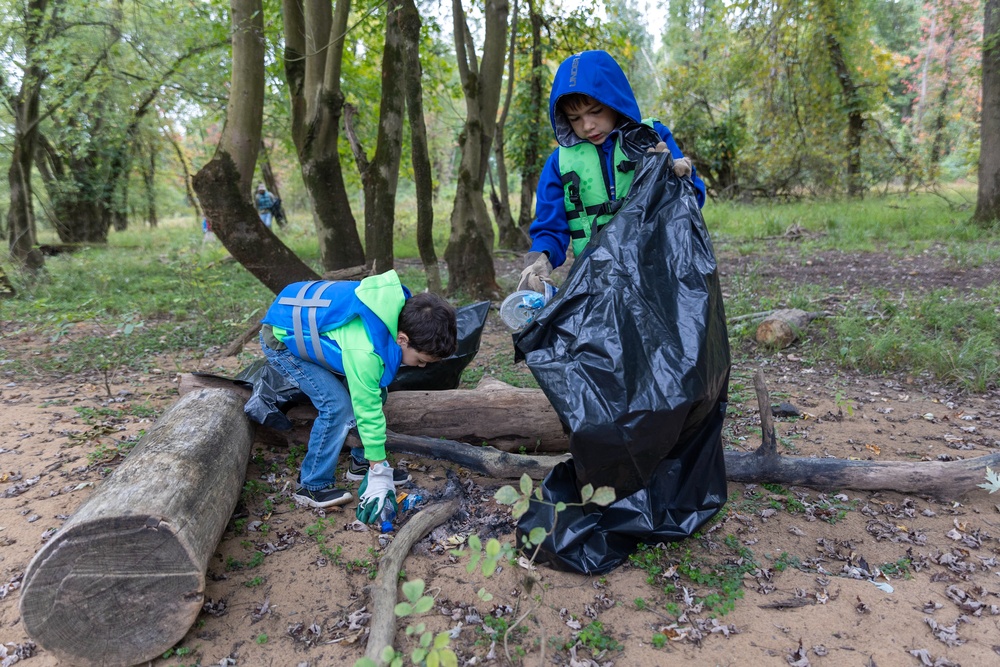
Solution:
<path fill-rule="evenodd" d="M 461 0 L 453 0 L 452 13 L 467 116 L 459 140 L 462 161 L 451 213 L 451 236 L 445 250 L 450 272 L 448 292 L 462 292 L 480 299 L 497 298 L 500 287 L 493 267 L 493 223 L 483 199 L 483 186 L 500 104 L 507 3 L 506 0 L 486 0 L 481 67 L 476 61 L 472 33 Z"/>

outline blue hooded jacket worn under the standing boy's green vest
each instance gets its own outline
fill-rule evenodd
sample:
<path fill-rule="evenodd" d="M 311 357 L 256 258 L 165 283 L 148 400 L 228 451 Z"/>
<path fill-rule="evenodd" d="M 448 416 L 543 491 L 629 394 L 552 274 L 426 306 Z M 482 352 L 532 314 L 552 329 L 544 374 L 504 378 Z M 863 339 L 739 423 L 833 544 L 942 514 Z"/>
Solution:
<path fill-rule="evenodd" d="M 559 98 L 573 94 L 588 95 L 601 104 L 611 107 L 621 116 L 622 122 L 642 121 L 639 103 L 636 102 L 632 86 L 629 85 L 625 72 L 615 59 L 606 51 L 583 51 L 570 56 L 559 65 L 552 82 L 552 92 L 549 94 L 549 119 L 560 146 L 573 146 L 586 141 L 576 136 L 566 114 L 559 109 Z M 653 129 L 666 142 L 667 149 L 674 158 L 684 157 L 667 126 L 655 122 Z M 612 133 L 601 146 L 605 156 L 613 155 L 615 136 L 616 133 Z M 608 160 L 602 160 L 602 165 L 608 163 Z M 698 206 L 704 206 L 705 184 L 693 169 L 691 180 L 697 189 Z M 553 268 L 562 266 L 569 249 L 570 234 L 569 223 L 566 220 L 562 175 L 559 173 L 558 148 L 545 161 L 538 179 L 535 220 L 531 223 L 529 234 L 533 252 L 545 252 Z"/>

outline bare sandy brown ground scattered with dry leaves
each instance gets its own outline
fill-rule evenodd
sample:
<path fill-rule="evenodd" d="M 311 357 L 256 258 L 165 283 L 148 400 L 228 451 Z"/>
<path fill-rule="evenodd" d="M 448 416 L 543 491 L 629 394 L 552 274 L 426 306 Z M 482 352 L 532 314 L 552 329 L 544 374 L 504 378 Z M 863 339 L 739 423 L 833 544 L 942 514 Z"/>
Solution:
<path fill-rule="evenodd" d="M 726 281 L 750 273 L 778 283 L 810 280 L 828 285 L 831 303 L 871 285 L 911 291 L 997 280 L 990 267 L 961 269 L 935 251 L 909 258 L 827 253 L 804 262 L 778 251 L 750 258 L 723 248 L 719 257 Z M 516 267 L 501 266 L 503 286 L 510 288 Z M 44 332 L 0 321 L 0 333 L 0 358 L 55 353 Z M 65 335 L 100 334 L 81 324 Z M 777 424 L 786 454 L 914 461 L 981 456 L 1000 447 L 996 388 L 969 394 L 919 375 L 876 378 L 805 365 L 809 343 L 768 353 L 736 342 L 728 447 L 749 450 L 760 441 L 750 379 L 758 368 L 776 401 L 804 415 Z M 24 570 L 113 472 L 118 446 L 134 442 L 176 400 L 178 373 L 233 374 L 259 350 L 229 359 L 214 352 L 160 359 L 162 370 L 152 373 L 122 370 L 107 384 L 98 377 L 0 375 L 3 665 L 18 655 L 36 667 L 59 664 L 33 646 L 20 623 Z M 473 367 L 511 372 L 510 335 L 495 312 Z M 380 536 L 350 529 L 353 505 L 326 513 L 295 507 L 290 454 L 255 447 L 247 479 L 265 490 L 237 508 L 210 561 L 204 612 L 179 650 L 150 664 L 349 665 L 363 654 L 365 589 Z M 465 511 L 432 532 L 405 563 L 406 577 L 422 578 L 436 598 L 420 620 L 436 632 L 452 630 L 460 665 L 506 664 L 507 655 L 519 664 L 574 667 L 1000 664 L 1000 505 L 986 491 L 938 500 L 731 483 L 726 510 L 700 536 L 646 552 L 658 554 L 652 576 L 638 563 L 602 577 L 541 566 L 541 585 L 529 593 L 518 566 L 505 565 L 486 579 L 448 553 L 472 532 L 513 540 L 509 510 L 492 499 L 506 482 L 447 461 L 407 458 L 396 464 L 411 470 L 411 493 L 431 496 L 453 471 L 469 494 Z M 313 536 L 317 528 L 322 541 Z M 234 567 L 258 552 L 266 555 L 261 565 Z M 728 613 L 710 611 L 707 603 L 729 595 L 707 575 L 737 568 L 740 597 Z M 700 583 L 693 571 L 705 575 Z M 477 596 L 481 588 L 492 600 Z M 409 651 L 415 642 L 403 632 L 406 625 L 400 621 L 396 646 Z M 496 629 L 512 625 L 505 647 Z"/>

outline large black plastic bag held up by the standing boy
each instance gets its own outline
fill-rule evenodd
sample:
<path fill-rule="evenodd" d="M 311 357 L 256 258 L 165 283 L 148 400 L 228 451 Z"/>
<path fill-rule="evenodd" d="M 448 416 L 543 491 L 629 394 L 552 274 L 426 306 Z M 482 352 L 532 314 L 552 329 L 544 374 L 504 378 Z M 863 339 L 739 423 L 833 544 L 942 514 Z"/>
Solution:
<path fill-rule="evenodd" d="M 711 241 L 668 155 L 640 157 L 631 193 L 514 341 L 570 434 L 572 461 L 545 479 L 544 497 L 615 488 L 607 508 L 560 513 L 540 552 L 587 573 L 639 542 L 691 535 L 727 495 L 729 338 Z M 518 530 L 537 526 L 553 529 L 552 509 L 532 502 Z"/>

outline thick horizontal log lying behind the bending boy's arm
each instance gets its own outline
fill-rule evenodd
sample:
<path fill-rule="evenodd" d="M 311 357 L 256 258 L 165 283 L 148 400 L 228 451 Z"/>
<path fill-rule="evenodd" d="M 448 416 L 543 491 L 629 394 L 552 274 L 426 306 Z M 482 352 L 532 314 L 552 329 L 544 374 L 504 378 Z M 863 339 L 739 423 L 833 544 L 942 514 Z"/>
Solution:
<path fill-rule="evenodd" d="M 200 387 L 242 391 L 246 388 L 215 376 L 181 375 L 181 395 Z M 292 420 L 312 422 L 316 409 L 297 406 L 288 411 Z M 475 389 L 394 391 L 385 404 L 386 426 L 407 435 L 446 438 L 480 445 L 488 443 L 507 452 L 565 452 L 569 438 L 552 404 L 540 389 L 520 389 L 484 377 Z M 309 439 L 307 423 L 294 433 L 299 442 Z"/>

